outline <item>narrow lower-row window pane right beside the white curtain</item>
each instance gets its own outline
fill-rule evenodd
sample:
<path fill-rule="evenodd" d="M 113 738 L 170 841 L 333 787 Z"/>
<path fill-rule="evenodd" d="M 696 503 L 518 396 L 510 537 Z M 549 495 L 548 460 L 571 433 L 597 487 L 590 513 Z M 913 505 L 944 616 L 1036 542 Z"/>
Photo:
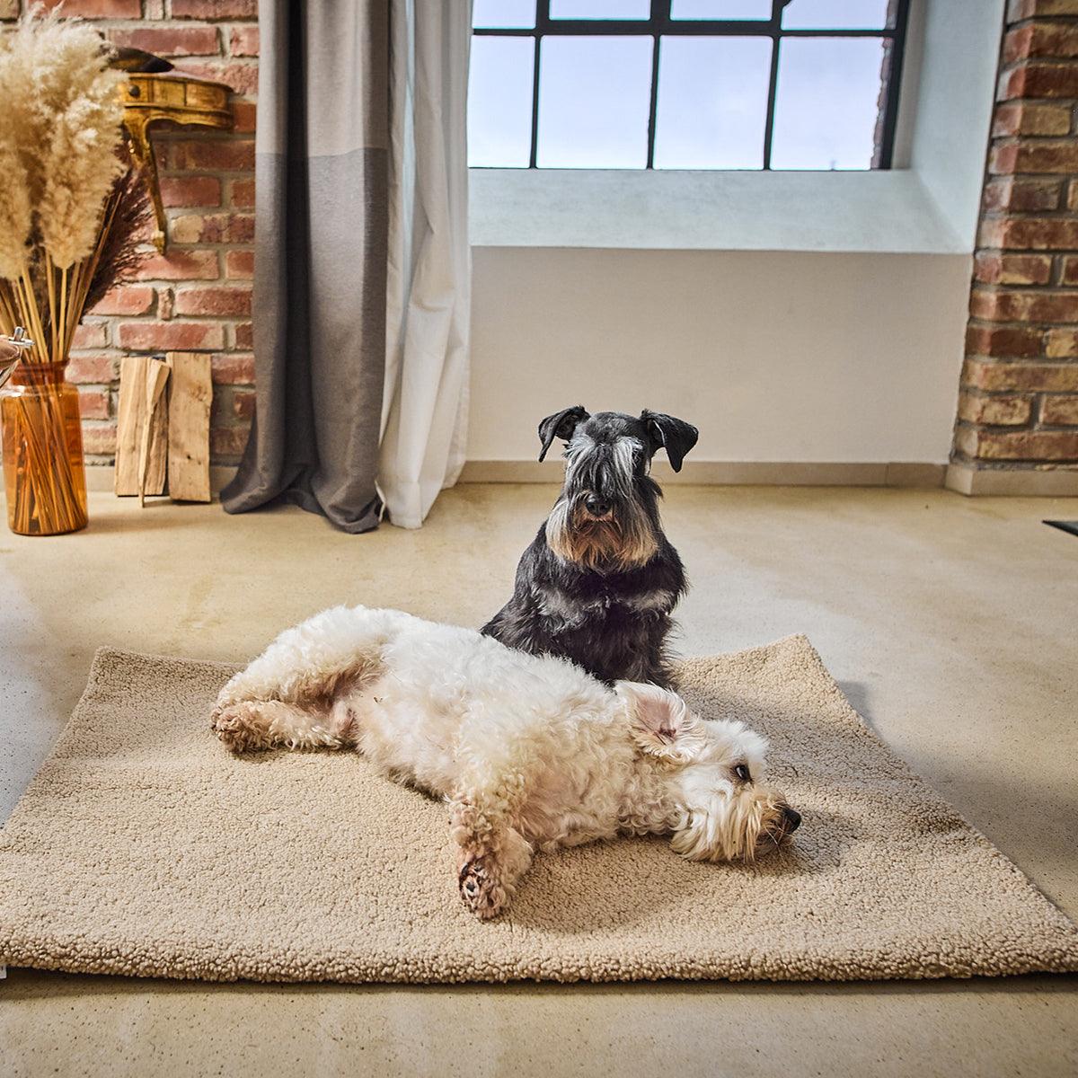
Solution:
<path fill-rule="evenodd" d="M 533 38 L 472 38 L 468 164 L 527 168 L 531 158 Z"/>

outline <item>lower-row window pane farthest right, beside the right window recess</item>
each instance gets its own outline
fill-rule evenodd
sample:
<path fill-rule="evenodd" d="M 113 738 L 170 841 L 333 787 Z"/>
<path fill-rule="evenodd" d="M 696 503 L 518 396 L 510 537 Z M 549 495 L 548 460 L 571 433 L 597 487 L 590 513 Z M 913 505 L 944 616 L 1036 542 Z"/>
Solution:
<path fill-rule="evenodd" d="M 871 168 L 882 65 L 880 38 L 785 38 L 772 168 Z"/>

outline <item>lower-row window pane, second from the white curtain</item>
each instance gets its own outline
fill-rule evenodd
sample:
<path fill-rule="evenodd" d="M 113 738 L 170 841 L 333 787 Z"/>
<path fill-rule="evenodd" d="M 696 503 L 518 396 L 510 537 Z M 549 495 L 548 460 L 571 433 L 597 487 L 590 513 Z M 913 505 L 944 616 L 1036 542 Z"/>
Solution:
<path fill-rule="evenodd" d="M 644 168 L 651 38 L 549 37 L 539 64 L 542 168 Z"/>

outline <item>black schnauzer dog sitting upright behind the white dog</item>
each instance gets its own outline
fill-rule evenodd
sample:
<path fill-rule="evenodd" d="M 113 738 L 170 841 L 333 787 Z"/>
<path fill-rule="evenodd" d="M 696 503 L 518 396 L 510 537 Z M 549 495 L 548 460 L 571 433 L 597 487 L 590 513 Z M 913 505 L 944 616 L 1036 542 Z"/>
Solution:
<path fill-rule="evenodd" d="M 567 443 L 565 485 L 521 558 L 513 597 L 483 632 L 561 655 L 607 683 L 669 687 L 666 636 L 686 579 L 648 471 L 660 448 L 680 471 L 696 428 L 647 410 L 589 415 L 578 404 L 539 424 L 540 460 L 555 438 Z"/>

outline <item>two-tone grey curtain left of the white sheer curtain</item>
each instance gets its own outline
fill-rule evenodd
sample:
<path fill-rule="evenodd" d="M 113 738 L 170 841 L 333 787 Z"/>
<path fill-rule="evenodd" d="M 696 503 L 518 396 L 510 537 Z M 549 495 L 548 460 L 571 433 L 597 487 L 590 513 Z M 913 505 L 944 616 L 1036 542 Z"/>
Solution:
<path fill-rule="evenodd" d="M 221 494 L 377 527 L 386 360 L 386 0 L 262 0 L 257 418 Z"/>

